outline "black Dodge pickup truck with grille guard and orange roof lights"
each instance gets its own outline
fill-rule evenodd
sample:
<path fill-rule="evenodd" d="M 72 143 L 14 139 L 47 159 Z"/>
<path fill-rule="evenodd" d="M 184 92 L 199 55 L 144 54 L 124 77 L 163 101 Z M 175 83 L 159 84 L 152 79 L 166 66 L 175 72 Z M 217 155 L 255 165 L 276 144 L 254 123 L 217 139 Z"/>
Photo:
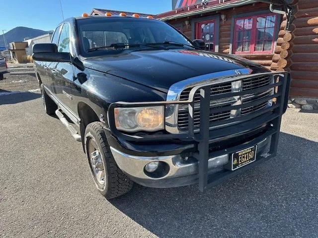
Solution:
<path fill-rule="evenodd" d="M 204 51 L 165 22 L 70 18 L 33 59 L 46 113 L 82 143 L 108 199 L 133 182 L 204 191 L 276 155 L 290 75 Z"/>

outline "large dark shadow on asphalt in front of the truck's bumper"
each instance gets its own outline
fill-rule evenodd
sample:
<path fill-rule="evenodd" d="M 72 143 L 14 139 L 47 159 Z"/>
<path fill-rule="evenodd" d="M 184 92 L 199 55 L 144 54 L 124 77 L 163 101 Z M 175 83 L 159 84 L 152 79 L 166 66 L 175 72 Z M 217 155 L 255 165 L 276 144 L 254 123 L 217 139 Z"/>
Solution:
<path fill-rule="evenodd" d="M 317 233 L 317 151 L 281 133 L 276 158 L 205 193 L 135 185 L 110 202 L 159 237 L 306 237 Z"/>

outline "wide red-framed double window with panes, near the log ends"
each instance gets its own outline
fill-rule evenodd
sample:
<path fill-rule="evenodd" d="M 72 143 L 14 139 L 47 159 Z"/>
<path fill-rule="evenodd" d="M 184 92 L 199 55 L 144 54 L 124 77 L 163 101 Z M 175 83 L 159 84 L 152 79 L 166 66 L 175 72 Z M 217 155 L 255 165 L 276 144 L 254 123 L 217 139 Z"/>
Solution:
<path fill-rule="evenodd" d="M 276 21 L 276 15 L 258 15 L 236 19 L 234 54 L 273 53 Z"/>

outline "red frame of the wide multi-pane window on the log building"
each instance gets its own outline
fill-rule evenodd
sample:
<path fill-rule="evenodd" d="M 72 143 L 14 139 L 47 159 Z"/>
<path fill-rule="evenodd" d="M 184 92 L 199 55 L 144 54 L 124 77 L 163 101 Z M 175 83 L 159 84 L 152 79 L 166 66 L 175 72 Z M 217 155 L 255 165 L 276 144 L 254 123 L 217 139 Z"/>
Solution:
<path fill-rule="evenodd" d="M 257 34 L 257 18 L 258 17 L 266 17 L 266 16 L 275 16 L 275 23 L 274 23 L 274 34 L 273 34 L 273 39 L 272 39 L 272 47 L 270 51 L 255 51 L 255 44 L 257 42 L 256 39 L 256 34 Z M 244 47 L 243 42 L 244 41 L 244 33 L 243 33 L 243 39 L 242 41 L 237 41 L 237 34 L 238 34 L 238 30 L 237 30 L 237 22 L 239 20 L 245 20 L 245 19 L 252 19 L 252 28 L 251 28 L 251 36 L 250 36 L 250 45 L 249 45 L 249 51 L 242 51 L 242 52 L 238 52 L 237 47 L 238 47 L 238 42 L 242 42 L 242 50 Z M 235 55 L 265 55 L 265 54 L 272 54 L 274 52 L 274 47 L 275 47 L 275 33 L 277 30 L 277 22 L 278 22 L 278 15 L 274 14 L 274 13 L 267 13 L 267 14 L 260 14 L 260 15 L 253 15 L 253 16 L 245 16 L 245 17 L 239 17 L 236 18 L 234 21 L 234 38 L 233 38 L 233 54 Z M 245 23 L 244 23 L 245 24 Z M 243 26 L 244 27 L 244 26 Z M 272 28 L 272 27 L 266 27 L 266 22 L 265 22 L 265 28 L 259 28 L 259 29 L 266 29 L 266 28 Z M 244 31 L 244 30 L 243 30 Z M 270 40 L 270 39 L 269 39 Z M 248 42 L 248 41 L 246 41 Z M 265 42 L 265 39 L 263 38 L 263 44 Z"/>

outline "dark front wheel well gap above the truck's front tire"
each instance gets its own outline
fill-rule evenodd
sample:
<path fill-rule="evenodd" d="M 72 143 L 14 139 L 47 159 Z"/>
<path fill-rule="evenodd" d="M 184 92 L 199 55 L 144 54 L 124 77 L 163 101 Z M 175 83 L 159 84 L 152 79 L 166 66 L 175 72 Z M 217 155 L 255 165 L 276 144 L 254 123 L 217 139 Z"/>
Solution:
<path fill-rule="evenodd" d="M 80 130 L 81 142 L 83 145 L 83 150 L 85 152 L 84 135 L 85 135 L 86 126 L 91 122 L 99 121 L 99 118 L 97 114 L 94 112 L 94 110 L 83 102 L 79 103 L 78 112 L 79 112 L 79 118 L 80 118 L 79 130 Z"/>

